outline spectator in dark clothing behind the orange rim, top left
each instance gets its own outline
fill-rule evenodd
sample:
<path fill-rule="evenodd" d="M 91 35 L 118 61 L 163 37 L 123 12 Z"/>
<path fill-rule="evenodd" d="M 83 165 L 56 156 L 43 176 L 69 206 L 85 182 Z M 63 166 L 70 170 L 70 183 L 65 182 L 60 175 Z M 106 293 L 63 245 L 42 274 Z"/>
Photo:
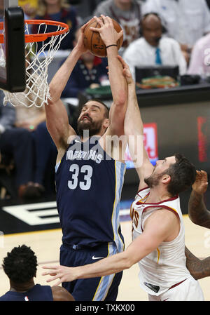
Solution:
<path fill-rule="evenodd" d="M 70 32 L 61 41 L 59 50 L 66 50 L 73 48 L 73 39 L 77 27 L 77 15 L 73 6 L 66 4 L 64 0 L 38 0 L 38 10 L 34 20 L 53 20 L 64 22 L 69 25 Z M 45 25 L 40 27 L 39 33 L 43 33 Z M 57 27 L 48 25 L 47 32 L 55 32 Z M 38 32 L 38 25 L 34 25 L 32 32 Z M 48 39 L 44 41 L 46 43 Z"/>

